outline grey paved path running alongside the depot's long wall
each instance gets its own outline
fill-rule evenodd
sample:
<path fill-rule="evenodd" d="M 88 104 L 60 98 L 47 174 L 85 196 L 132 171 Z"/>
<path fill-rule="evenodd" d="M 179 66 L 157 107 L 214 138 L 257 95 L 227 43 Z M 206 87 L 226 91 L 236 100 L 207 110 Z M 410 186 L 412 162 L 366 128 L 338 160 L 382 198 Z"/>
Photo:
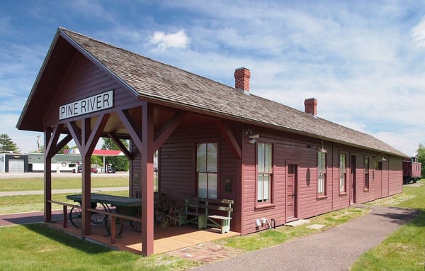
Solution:
<path fill-rule="evenodd" d="M 414 209 L 367 207 L 373 209 L 370 214 L 327 231 L 195 270 L 348 270 L 363 253 L 419 214 Z"/>

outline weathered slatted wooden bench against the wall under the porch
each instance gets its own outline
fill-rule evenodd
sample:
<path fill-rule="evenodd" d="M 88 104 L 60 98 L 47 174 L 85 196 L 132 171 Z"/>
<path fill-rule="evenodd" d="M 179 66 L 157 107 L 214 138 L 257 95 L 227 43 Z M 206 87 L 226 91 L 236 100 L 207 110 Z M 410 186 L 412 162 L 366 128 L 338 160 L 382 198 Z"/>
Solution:
<path fill-rule="evenodd" d="M 184 199 L 183 209 L 179 213 L 179 225 L 198 223 L 198 229 L 220 228 L 221 233 L 230 231 L 232 219 L 232 199 Z"/>

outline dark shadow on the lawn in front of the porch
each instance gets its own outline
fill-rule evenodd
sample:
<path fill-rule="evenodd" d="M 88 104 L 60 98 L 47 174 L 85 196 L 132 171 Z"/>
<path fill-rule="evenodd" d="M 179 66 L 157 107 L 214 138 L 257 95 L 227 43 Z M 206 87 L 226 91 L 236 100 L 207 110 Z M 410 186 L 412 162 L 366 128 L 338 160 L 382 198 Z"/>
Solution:
<path fill-rule="evenodd" d="M 71 236 L 68 233 L 57 231 L 54 228 L 50 228 L 49 226 L 46 226 L 44 223 L 33 223 L 33 224 L 26 224 L 22 226 L 28 228 L 28 230 L 33 231 L 34 233 L 38 233 L 41 236 L 45 236 L 46 238 L 49 238 L 50 240 L 53 240 L 62 245 L 66 245 L 70 248 L 80 250 L 81 252 L 84 252 L 87 254 L 93 255 L 93 254 L 107 253 L 107 252 L 113 251 L 110 248 L 106 248 L 102 245 L 96 245 L 95 243 L 82 240 L 75 236 Z"/>

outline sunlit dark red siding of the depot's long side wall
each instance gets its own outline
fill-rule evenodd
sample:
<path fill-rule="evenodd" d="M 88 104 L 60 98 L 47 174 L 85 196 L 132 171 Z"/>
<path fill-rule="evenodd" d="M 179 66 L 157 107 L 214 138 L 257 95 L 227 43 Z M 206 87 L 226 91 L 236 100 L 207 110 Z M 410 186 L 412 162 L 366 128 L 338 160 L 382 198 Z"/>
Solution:
<path fill-rule="evenodd" d="M 324 143 L 327 150 L 326 197 L 317 196 L 317 148 L 314 139 L 277 133 L 266 129 L 254 129 L 259 133 L 259 142 L 273 143 L 273 200 L 266 208 L 256 205 L 256 148 L 244 137 L 242 146 L 243 173 L 243 225 L 242 234 L 261 231 L 267 226 L 256 226 L 256 219 L 274 219 L 276 226 L 283 225 L 285 217 L 286 170 L 288 165 L 297 165 L 297 196 L 295 216 L 306 219 L 350 205 L 351 155 L 356 157 L 356 203 L 376 199 L 373 171 L 378 155 L 358 148 L 336 143 Z M 317 140 L 316 140 L 317 141 Z M 319 146 L 319 147 L 318 147 Z M 346 154 L 346 193 L 339 193 L 339 153 Z M 376 156 L 376 157 L 375 157 Z M 369 189 L 365 189 L 364 160 L 369 157 Z M 390 164 L 382 162 L 382 185 L 380 197 L 402 192 L 402 158 L 391 157 Z M 389 170 L 390 169 L 390 170 Z M 389 181 L 390 180 L 390 181 Z M 378 187 L 378 186 L 377 186 Z M 385 189 L 387 192 L 385 192 Z M 376 193 L 378 194 L 378 193 Z"/>

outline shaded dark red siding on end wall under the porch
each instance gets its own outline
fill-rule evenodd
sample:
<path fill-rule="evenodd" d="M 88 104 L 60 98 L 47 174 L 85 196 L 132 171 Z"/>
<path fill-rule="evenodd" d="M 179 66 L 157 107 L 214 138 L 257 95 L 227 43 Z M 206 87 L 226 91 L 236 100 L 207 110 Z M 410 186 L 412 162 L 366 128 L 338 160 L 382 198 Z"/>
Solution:
<path fill-rule="evenodd" d="M 179 128 L 166 140 L 159 149 L 159 192 L 168 194 L 176 203 L 185 198 L 197 197 L 196 181 L 196 143 L 217 142 L 219 147 L 219 169 L 218 169 L 218 196 L 220 199 L 233 199 L 232 231 L 240 228 L 240 214 L 237 209 L 237 159 L 232 152 L 227 141 L 222 138 L 219 129 L 213 121 L 206 121 L 205 126 L 187 127 L 191 118 L 183 121 Z M 235 125 L 225 123 L 235 134 Z M 135 149 L 137 152 L 137 149 Z M 136 187 L 137 164 L 140 164 L 140 157 L 132 160 L 132 186 Z M 225 179 L 232 179 L 231 192 L 225 191 Z"/>

